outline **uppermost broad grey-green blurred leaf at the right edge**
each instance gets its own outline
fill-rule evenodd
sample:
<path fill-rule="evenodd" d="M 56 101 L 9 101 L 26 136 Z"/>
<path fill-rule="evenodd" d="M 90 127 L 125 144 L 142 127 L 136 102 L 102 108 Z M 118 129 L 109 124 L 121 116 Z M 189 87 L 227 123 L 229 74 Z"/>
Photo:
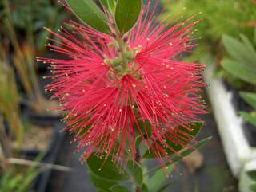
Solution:
<path fill-rule="evenodd" d="M 256 53 L 254 47 L 245 36 L 242 35 L 241 37 L 242 42 L 233 37 L 224 35 L 222 40 L 225 49 L 227 53 L 230 54 L 230 57 L 234 58 L 234 60 L 243 63 L 248 67 L 256 67 Z"/>

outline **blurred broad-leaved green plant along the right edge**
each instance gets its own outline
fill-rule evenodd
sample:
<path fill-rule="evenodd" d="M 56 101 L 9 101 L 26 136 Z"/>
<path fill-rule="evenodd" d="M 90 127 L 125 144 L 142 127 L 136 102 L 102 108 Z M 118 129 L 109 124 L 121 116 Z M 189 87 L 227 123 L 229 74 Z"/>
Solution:
<path fill-rule="evenodd" d="M 250 105 L 250 112 L 239 112 L 239 114 L 246 122 L 256 127 L 256 50 L 245 35 L 241 35 L 241 39 L 242 41 L 238 41 L 227 35 L 222 37 L 223 45 L 230 58 L 223 59 L 221 64 L 223 69 L 232 76 L 250 84 L 245 89 L 251 92 L 240 92 L 242 99 Z"/>

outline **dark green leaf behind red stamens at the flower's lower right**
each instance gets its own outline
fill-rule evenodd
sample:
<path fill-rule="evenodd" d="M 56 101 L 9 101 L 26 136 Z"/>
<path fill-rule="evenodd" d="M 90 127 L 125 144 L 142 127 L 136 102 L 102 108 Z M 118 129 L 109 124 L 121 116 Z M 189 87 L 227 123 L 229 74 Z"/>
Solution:
<path fill-rule="evenodd" d="M 166 143 L 173 149 L 173 150 L 170 150 L 169 148 L 166 148 L 166 152 L 168 153 L 168 155 L 174 154 L 174 151 L 177 151 L 177 152 L 181 151 L 184 148 L 184 145 L 185 146 L 188 145 L 200 132 L 202 128 L 202 122 L 195 122 L 188 126 L 190 127 L 190 130 L 188 130 L 188 128 L 184 126 L 177 127 L 177 129 L 179 129 L 178 135 L 181 138 L 186 138 L 186 140 L 183 140 L 183 139 L 180 140 L 182 141 L 183 145 L 178 144 L 178 142 L 173 143 L 169 139 L 166 139 Z M 190 135 L 190 137 L 188 137 L 187 135 Z M 150 151 L 146 151 L 145 155 L 143 155 L 143 158 L 146 158 L 146 159 L 154 158 L 154 154 L 151 153 Z"/>

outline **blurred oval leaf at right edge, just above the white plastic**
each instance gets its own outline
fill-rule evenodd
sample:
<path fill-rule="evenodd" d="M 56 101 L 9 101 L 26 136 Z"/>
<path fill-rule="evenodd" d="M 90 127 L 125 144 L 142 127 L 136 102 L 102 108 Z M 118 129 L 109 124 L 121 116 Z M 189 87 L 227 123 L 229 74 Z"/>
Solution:
<path fill-rule="evenodd" d="M 230 72 L 231 75 L 238 77 L 250 84 L 256 84 L 256 69 L 248 68 L 242 63 L 233 60 L 225 59 L 222 61 L 222 67 Z"/>

